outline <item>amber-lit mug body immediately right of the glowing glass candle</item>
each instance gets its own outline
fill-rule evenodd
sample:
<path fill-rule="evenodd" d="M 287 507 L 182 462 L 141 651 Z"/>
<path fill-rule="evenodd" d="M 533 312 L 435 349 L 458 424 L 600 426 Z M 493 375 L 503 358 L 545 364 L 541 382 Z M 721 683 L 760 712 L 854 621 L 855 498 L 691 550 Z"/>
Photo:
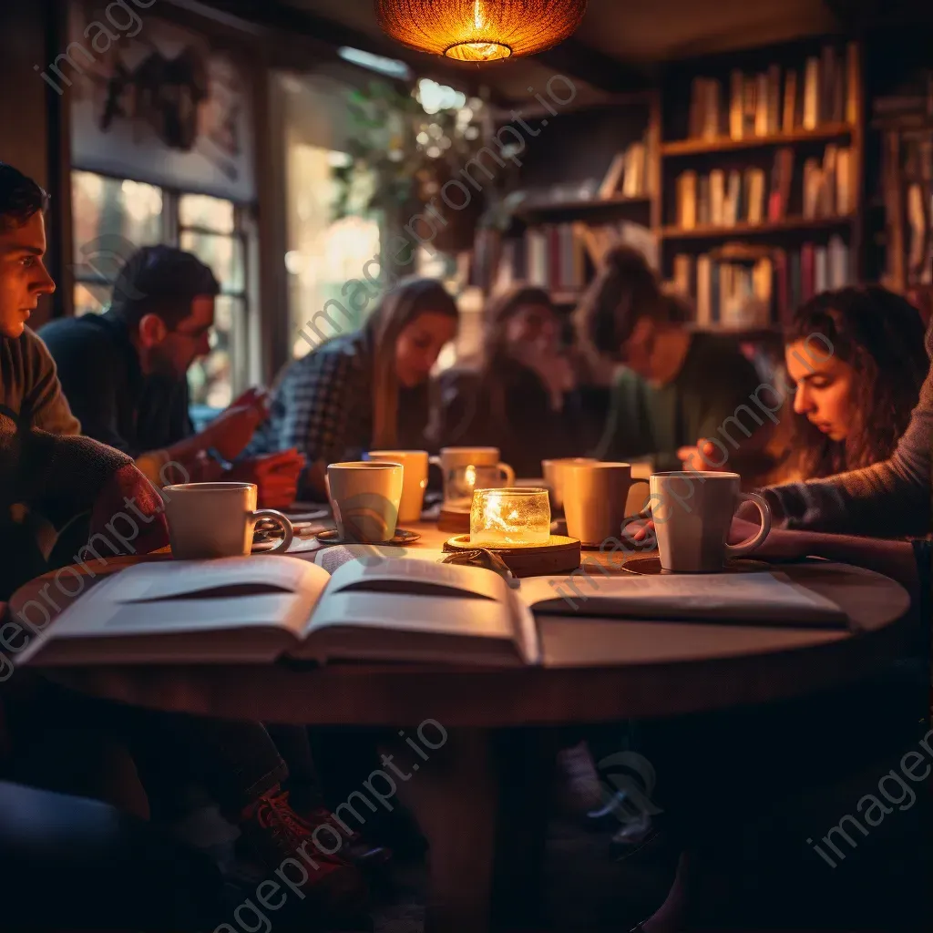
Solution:
<path fill-rule="evenodd" d="M 622 463 L 564 463 L 567 535 L 597 547 L 619 537 L 632 489 L 632 467 Z"/>

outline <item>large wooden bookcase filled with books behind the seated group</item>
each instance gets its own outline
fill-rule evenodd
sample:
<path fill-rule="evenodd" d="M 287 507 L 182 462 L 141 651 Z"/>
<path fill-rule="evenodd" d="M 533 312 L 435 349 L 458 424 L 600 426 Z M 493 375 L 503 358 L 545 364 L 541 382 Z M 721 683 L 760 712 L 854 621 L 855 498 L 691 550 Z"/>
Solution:
<path fill-rule="evenodd" d="M 671 63 L 652 91 L 557 116 L 523 111 L 535 139 L 511 190 L 525 196 L 486 238 L 494 255 L 476 284 L 489 295 L 530 282 L 572 309 L 621 239 L 689 297 L 695 327 L 773 335 L 801 300 L 862 277 L 862 68 L 859 44 L 815 36 Z M 621 158 L 633 145 L 637 191 Z"/>

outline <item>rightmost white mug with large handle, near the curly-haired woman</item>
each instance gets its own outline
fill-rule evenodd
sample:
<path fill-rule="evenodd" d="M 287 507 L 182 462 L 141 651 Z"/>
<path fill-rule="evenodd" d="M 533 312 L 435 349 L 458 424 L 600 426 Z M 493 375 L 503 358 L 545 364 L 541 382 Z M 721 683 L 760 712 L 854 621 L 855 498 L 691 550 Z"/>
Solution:
<path fill-rule="evenodd" d="M 759 548 L 771 531 L 768 503 L 760 495 L 743 493 L 738 473 L 654 473 L 649 483 L 664 570 L 716 573 L 728 558 L 743 557 Z M 761 527 L 742 544 L 727 544 L 732 517 L 741 502 L 755 504 Z"/>

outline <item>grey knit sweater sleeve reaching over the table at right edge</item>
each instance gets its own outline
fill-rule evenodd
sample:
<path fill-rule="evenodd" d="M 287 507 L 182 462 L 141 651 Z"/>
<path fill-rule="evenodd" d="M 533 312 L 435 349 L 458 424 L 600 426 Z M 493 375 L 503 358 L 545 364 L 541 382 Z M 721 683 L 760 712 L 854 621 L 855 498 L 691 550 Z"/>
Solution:
<path fill-rule="evenodd" d="M 926 331 L 926 352 L 933 356 L 933 323 Z M 928 535 L 931 445 L 933 369 L 889 460 L 825 480 L 769 486 L 762 492 L 785 528 L 876 537 Z"/>

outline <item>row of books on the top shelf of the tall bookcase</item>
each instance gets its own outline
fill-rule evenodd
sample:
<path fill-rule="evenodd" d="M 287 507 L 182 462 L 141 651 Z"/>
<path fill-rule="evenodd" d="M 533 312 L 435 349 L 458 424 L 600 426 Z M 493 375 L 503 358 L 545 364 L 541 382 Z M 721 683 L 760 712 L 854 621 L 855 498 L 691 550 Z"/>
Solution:
<path fill-rule="evenodd" d="M 695 77 L 690 88 L 690 139 L 734 140 L 815 130 L 827 123 L 856 122 L 857 51 L 826 45 L 806 59 L 801 69 L 772 63 L 764 71 L 745 74 L 733 69 L 728 80 L 728 106 L 723 107 L 723 82 Z"/>

